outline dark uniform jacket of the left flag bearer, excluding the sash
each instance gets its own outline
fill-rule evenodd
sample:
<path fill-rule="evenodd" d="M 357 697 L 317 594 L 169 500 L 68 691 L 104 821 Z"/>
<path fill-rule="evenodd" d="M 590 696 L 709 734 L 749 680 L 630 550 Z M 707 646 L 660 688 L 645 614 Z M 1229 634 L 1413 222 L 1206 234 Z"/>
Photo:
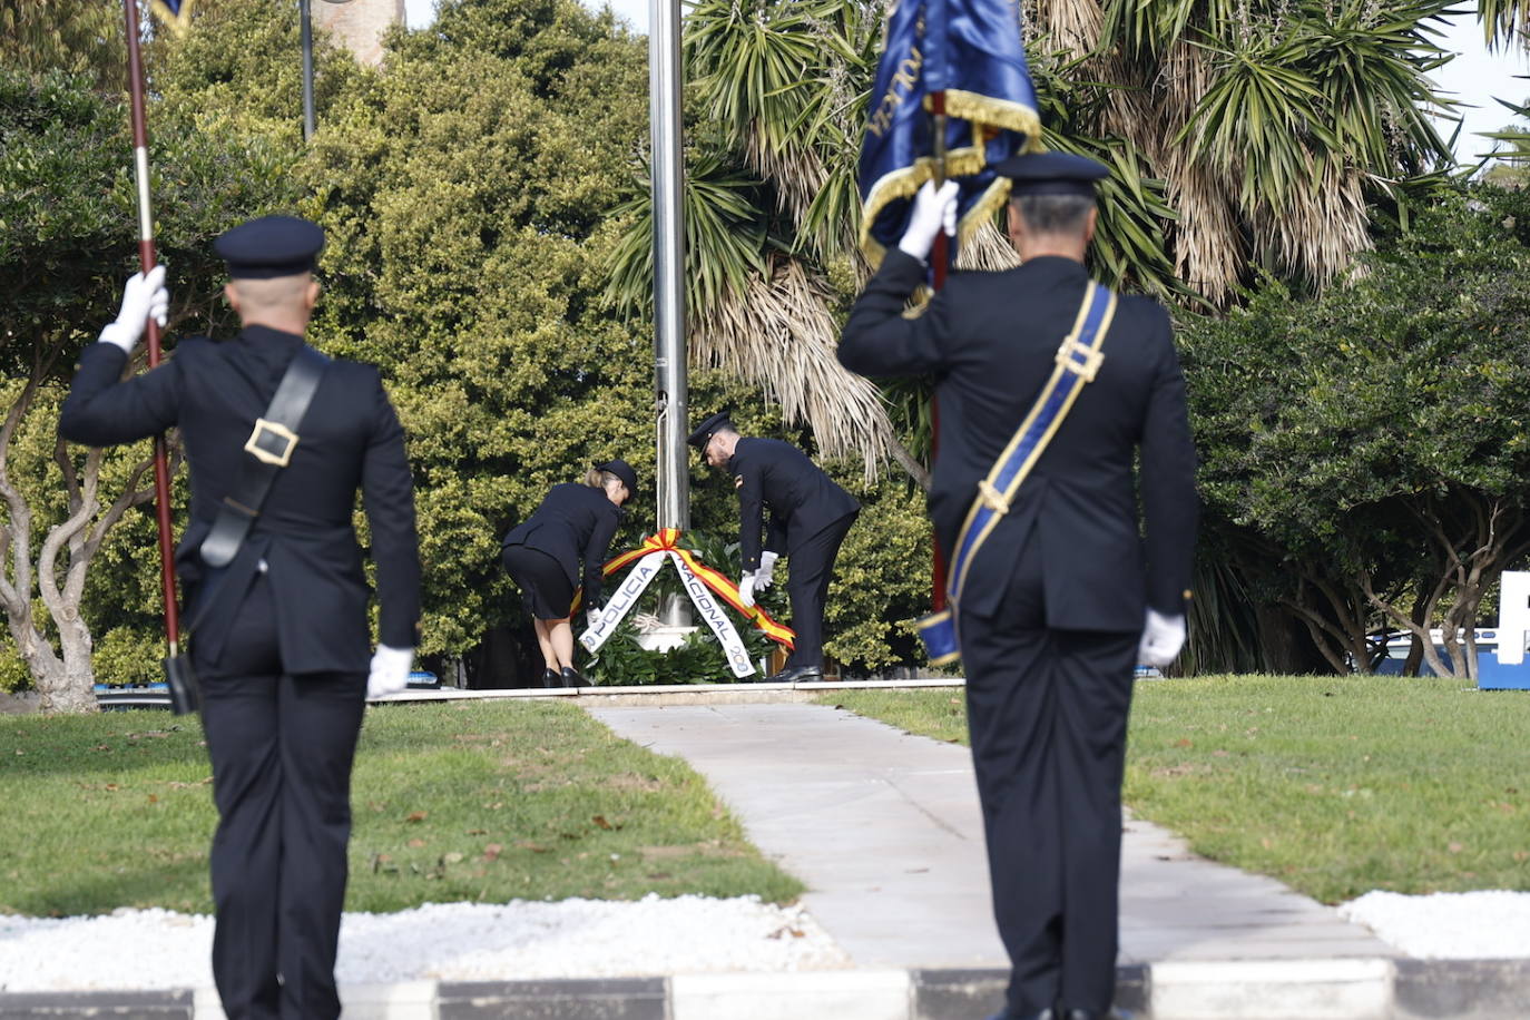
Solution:
<path fill-rule="evenodd" d="M 181 427 L 191 465 L 191 514 L 176 552 L 190 612 L 205 567 L 199 547 L 239 477 L 245 440 L 303 338 L 249 326 L 231 341 L 191 338 L 165 364 L 121 381 L 127 355 L 92 344 L 80 358 L 58 419 L 64 439 L 107 447 Z M 372 365 L 332 361 L 309 405 L 288 466 L 220 578 L 213 610 L 196 624 L 194 651 L 217 662 L 242 590 L 268 564 L 282 662 L 288 673 L 364 673 L 370 656 L 367 581 L 356 544 L 356 491 L 372 528 L 381 596 L 379 639 L 413 647 L 419 621 L 419 541 L 404 431 Z"/>

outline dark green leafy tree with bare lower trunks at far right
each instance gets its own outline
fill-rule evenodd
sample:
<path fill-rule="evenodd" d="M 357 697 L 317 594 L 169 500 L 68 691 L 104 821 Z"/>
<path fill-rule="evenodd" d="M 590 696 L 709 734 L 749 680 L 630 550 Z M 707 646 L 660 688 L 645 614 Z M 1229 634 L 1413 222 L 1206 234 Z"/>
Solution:
<path fill-rule="evenodd" d="M 1530 197 L 1483 187 L 1320 298 L 1271 283 L 1187 323 L 1206 500 L 1337 670 L 1368 668 L 1366 633 L 1389 627 L 1475 676 L 1483 599 L 1530 552 L 1527 271 Z M 1440 655 L 1432 627 L 1466 639 Z"/>

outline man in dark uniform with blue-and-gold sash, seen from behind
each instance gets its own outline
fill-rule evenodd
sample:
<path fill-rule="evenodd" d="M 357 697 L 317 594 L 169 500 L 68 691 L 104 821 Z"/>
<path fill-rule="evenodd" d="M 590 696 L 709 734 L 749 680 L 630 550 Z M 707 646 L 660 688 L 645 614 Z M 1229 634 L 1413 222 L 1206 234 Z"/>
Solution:
<path fill-rule="evenodd" d="M 929 505 L 944 549 L 1079 317 L 1094 182 L 1108 174 L 1060 153 L 998 170 L 1013 180 L 1022 265 L 955 272 L 921 317 L 903 318 L 935 234 L 955 223 L 956 185 L 926 185 L 838 349 L 861 375 L 935 378 Z M 1102 353 L 973 557 L 958 609 L 994 914 L 1013 963 L 1002 1017 L 1109 1015 L 1132 667 L 1167 665 L 1184 641 L 1198 500 L 1167 313 L 1120 298 Z"/>

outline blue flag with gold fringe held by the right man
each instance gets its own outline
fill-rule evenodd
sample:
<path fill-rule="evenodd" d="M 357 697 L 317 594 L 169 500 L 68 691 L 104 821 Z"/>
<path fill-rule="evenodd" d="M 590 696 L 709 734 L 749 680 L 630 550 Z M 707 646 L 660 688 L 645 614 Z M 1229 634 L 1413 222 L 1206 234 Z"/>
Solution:
<path fill-rule="evenodd" d="M 874 265 L 935 176 L 935 92 L 946 95 L 946 176 L 961 184 L 958 237 L 967 237 L 1008 199 L 993 165 L 1040 148 L 1017 0 L 892 0 L 858 173 L 861 249 Z"/>

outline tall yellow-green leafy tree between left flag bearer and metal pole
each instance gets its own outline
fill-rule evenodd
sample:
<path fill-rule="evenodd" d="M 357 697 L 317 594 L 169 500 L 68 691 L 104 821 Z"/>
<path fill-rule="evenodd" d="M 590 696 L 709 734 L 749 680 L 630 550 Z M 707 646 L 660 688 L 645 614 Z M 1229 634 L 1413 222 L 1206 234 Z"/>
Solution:
<path fill-rule="evenodd" d="M 643 60 L 574 0 L 445 5 L 304 165 L 330 237 L 312 336 L 378 364 L 409 433 L 425 653 L 473 647 L 517 601 L 499 538 L 548 488 L 650 459 L 650 341 L 597 301 Z M 652 517 L 644 482 L 624 538 Z"/>

